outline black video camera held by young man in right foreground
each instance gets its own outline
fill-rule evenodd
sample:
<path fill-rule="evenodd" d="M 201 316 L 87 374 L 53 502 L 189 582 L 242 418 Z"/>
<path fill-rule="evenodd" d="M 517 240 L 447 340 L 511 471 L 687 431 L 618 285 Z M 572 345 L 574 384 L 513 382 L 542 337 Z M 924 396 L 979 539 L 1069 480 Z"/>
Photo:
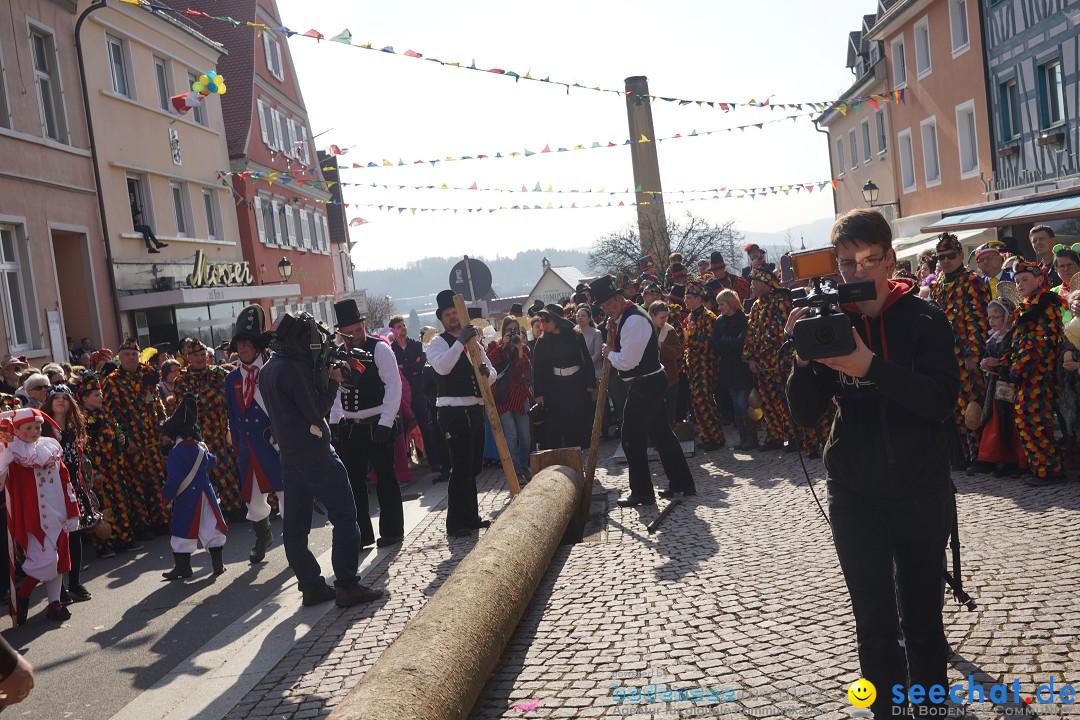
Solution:
<path fill-rule="evenodd" d="M 828 277 L 814 277 L 809 294 L 795 298 L 796 308 L 810 308 L 810 315 L 795 323 L 795 350 L 805 361 L 840 357 L 855 351 L 851 337 L 851 321 L 837 305 L 862 302 L 877 297 L 873 280 L 859 283 L 836 283 Z"/>

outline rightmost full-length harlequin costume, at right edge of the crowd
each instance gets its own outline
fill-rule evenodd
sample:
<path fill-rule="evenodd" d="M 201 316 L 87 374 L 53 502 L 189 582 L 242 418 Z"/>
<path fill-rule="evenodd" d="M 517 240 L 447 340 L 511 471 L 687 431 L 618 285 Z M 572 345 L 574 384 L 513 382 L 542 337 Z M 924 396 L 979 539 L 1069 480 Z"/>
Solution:
<path fill-rule="evenodd" d="M 1016 274 L 1023 272 L 1044 276 L 1038 266 L 1021 261 Z M 1016 385 L 1016 430 L 1031 475 L 1058 478 L 1065 472 L 1054 443 L 1055 372 L 1065 337 L 1061 298 L 1043 285 L 1021 302 L 1015 317 L 1003 362 Z"/>

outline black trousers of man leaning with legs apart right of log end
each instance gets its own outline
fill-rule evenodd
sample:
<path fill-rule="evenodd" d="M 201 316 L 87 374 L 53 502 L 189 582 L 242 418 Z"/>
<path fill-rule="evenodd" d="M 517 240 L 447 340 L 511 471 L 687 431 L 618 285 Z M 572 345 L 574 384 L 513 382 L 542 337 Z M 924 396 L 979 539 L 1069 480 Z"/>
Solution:
<path fill-rule="evenodd" d="M 624 382 L 619 378 L 612 382 Z M 667 424 L 664 394 L 667 376 L 657 372 L 625 384 L 626 403 L 622 409 L 622 449 L 630 470 L 630 494 L 651 498 L 652 477 L 649 473 L 649 446 L 660 453 L 660 464 L 667 476 L 669 487 L 676 491 L 693 490 L 690 466 L 672 426 Z"/>

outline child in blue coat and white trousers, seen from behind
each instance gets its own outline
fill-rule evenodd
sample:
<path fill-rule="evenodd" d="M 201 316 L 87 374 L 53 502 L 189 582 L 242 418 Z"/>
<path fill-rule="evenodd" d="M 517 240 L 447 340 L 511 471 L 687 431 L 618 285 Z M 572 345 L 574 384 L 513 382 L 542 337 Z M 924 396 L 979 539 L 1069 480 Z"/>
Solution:
<path fill-rule="evenodd" d="M 221 508 L 210 481 L 210 472 L 217 458 L 202 443 L 199 430 L 199 407 L 193 395 L 180 398 L 176 412 L 161 423 L 161 432 L 173 440 L 166 462 L 167 479 L 162 497 L 173 501 L 173 562 L 174 568 L 163 572 L 165 580 L 190 578 L 191 554 L 202 541 L 210 552 L 214 574 L 225 572 L 221 552 L 229 526 L 221 517 Z"/>

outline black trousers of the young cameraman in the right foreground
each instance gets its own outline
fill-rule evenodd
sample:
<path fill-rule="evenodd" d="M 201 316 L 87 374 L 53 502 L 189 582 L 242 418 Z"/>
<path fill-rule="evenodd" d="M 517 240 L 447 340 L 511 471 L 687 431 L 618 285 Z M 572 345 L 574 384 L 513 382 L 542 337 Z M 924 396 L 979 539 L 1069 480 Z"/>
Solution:
<path fill-rule="evenodd" d="M 859 664 L 877 689 L 877 718 L 893 717 L 893 685 L 948 688 L 942 560 L 950 510 L 944 479 L 942 486 L 942 492 L 882 500 L 828 483 L 833 542 L 855 615 Z"/>

